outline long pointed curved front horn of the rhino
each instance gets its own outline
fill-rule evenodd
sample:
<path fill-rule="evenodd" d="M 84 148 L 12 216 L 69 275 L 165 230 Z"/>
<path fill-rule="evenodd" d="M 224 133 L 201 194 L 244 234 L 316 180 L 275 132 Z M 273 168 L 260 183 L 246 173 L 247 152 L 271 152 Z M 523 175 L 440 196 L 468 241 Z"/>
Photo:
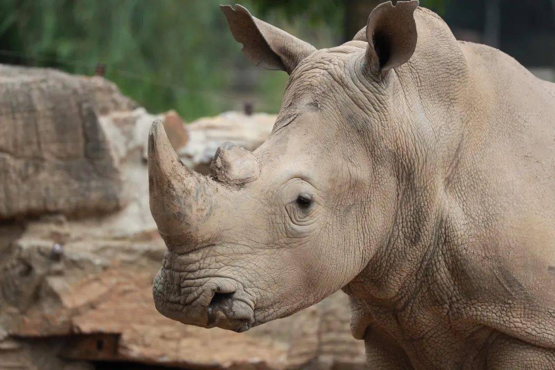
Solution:
<path fill-rule="evenodd" d="M 185 166 L 160 120 L 148 138 L 150 212 L 166 245 L 183 244 L 198 231 L 213 206 L 209 180 Z"/>

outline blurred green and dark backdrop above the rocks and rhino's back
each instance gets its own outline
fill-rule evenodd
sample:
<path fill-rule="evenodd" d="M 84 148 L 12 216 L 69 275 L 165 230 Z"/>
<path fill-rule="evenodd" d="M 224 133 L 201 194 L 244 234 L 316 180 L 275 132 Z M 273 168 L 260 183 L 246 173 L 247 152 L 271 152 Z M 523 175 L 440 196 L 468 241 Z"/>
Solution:
<path fill-rule="evenodd" d="M 250 65 L 218 0 L 2 0 L 0 63 L 99 73 L 154 113 L 187 121 L 245 102 L 279 109 L 285 73 Z M 317 48 L 349 40 L 380 0 L 244 0 L 255 16 Z M 421 0 L 458 39 L 497 47 L 555 79 L 555 0 Z"/>

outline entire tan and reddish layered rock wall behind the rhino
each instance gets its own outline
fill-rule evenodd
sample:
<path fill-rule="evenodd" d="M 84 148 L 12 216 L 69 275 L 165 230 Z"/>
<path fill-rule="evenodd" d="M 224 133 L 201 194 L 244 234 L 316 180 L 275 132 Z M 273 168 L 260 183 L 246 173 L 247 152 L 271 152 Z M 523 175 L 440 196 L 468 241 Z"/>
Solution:
<path fill-rule="evenodd" d="M 48 84 L 52 94 L 44 90 Z M 59 85 L 73 93 L 64 95 Z M 42 156 L 31 179 L 51 173 L 60 187 L 52 192 L 45 184 L 26 185 L 18 170 L 0 181 L 0 187 L 10 186 L 0 189 L 0 217 L 11 218 L 0 223 L 0 368 L 88 370 L 98 361 L 214 370 L 364 368 L 364 345 L 351 337 L 342 292 L 241 334 L 185 326 L 154 308 L 152 280 L 165 246 L 148 203 L 144 151 L 150 124 L 161 119 L 183 161 L 206 169 L 223 141 L 255 149 L 275 116 L 228 112 L 184 125 L 175 112 L 152 115 L 135 107 L 100 78 L 43 69 L 0 67 L 0 91 L 40 102 L 28 103 L 25 120 L 16 114 L 1 121 L 0 130 L 5 122 L 25 129 L 0 138 L 0 148 L 12 145 L 9 154 L 0 150 L 0 171 L 26 168 Z M 62 97 L 68 102 L 59 102 Z M 10 99 L 0 95 L 0 107 L 23 109 Z M 67 120 L 59 112 L 58 118 L 44 113 L 44 107 L 62 104 L 73 112 Z M 79 110 L 83 104 L 90 108 Z M 94 141 L 79 136 L 90 125 L 98 133 Z M 58 129 L 62 134 L 49 134 Z M 35 145 L 29 156 L 13 144 L 31 140 L 26 135 Z M 94 155 L 84 155 L 89 144 Z M 69 169 L 81 165 L 87 171 L 72 177 Z M 85 197 L 87 191 L 95 193 Z"/>

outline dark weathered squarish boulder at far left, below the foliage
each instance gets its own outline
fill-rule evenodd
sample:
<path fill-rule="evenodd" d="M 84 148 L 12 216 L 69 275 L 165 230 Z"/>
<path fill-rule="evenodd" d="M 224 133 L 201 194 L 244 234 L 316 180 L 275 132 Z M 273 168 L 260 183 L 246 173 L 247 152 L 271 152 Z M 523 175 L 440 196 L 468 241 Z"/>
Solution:
<path fill-rule="evenodd" d="M 0 220 L 98 214 L 122 206 L 122 180 L 98 114 L 134 103 L 113 84 L 0 66 Z"/>

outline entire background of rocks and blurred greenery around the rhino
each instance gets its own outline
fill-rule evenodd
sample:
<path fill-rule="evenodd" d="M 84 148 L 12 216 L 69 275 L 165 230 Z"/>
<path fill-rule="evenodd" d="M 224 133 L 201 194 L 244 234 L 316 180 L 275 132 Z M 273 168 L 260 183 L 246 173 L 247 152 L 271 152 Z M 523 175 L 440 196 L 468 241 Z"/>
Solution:
<path fill-rule="evenodd" d="M 241 334 L 154 308 L 150 125 L 206 174 L 224 141 L 263 143 L 287 80 L 241 54 L 219 1 L 0 0 L 0 370 L 366 369 L 341 291 Z M 325 48 L 379 2 L 243 5 Z M 420 3 L 555 81 L 555 0 Z"/>

